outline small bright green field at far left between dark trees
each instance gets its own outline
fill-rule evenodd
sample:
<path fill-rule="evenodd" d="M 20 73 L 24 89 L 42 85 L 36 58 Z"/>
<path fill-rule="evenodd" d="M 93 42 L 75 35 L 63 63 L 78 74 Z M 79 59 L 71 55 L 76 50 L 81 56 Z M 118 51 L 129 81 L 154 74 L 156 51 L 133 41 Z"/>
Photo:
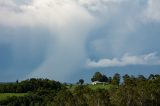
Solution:
<path fill-rule="evenodd" d="M 12 97 L 12 96 L 20 97 L 25 95 L 27 95 L 27 93 L 0 93 L 0 100 L 5 100 L 8 97 Z"/>

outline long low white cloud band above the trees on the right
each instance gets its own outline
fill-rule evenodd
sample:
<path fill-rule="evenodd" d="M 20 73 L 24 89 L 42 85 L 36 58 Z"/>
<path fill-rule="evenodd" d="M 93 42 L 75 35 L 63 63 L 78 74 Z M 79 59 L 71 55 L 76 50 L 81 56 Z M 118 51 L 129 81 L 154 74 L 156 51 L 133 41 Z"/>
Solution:
<path fill-rule="evenodd" d="M 123 67 L 129 65 L 160 65 L 160 57 L 156 53 L 140 56 L 124 55 L 122 58 L 100 59 L 99 61 L 87 61 L 88 67 Z"/>

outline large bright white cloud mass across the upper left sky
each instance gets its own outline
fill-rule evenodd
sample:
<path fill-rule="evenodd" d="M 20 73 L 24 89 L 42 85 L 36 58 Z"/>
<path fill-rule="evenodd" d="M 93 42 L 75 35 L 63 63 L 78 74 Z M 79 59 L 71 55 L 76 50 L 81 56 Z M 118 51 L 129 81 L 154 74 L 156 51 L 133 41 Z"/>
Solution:
<path fill-rule="evenodd" d="M 74 0 L 32 0 L 24 5 L 13 0 L 1 0 L 0 9 L 0 25 L 5 26 L 45 25 L 57 28 L 77 20 L 92 20 L 90 14 Z"/>

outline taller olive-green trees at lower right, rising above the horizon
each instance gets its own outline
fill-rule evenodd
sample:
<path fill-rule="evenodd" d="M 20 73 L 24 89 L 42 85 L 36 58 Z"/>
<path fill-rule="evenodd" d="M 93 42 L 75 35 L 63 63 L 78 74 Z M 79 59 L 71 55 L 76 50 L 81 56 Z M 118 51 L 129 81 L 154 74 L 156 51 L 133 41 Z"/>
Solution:
<path fill-rule="evenodd" d="M 160 75 L 125 75 L 123 83 L 112 91 L 110 100 L 115 106 L 160 106 Z"/>

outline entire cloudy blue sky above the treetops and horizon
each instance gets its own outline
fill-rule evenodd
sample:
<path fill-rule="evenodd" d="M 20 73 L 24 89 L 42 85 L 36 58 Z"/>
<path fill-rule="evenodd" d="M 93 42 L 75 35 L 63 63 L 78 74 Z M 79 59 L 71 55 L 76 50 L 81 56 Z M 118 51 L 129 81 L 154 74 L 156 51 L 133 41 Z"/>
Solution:
<path fill-rule="evenodd" d="M 160 74 L 160 0 L 0 0 L 0 82 Z"/>

